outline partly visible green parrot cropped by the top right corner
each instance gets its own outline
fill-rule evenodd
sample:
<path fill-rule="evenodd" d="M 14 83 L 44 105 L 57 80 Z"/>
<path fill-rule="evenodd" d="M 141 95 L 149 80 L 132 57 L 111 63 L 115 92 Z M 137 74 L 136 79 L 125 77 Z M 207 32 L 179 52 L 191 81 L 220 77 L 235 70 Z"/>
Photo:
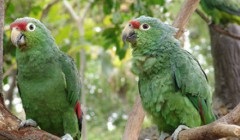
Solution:
<path fill-rule="evenodd" d="M 239 0 L 201 0 L 200 4 L 214 24 L 240 24 Z"/>

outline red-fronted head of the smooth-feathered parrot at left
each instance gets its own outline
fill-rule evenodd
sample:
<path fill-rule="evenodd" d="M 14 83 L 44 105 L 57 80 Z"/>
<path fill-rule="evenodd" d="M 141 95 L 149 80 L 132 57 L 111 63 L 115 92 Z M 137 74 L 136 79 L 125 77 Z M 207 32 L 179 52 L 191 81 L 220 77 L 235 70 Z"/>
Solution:
<path fill-rule="evenodd" d="M 10 25 L 10 29 L 12 30 L 11 41 L 20 50 L 35 47 L 36 44 L 54 41 L 50 31 L 34 18 L 18 18 Z"/>

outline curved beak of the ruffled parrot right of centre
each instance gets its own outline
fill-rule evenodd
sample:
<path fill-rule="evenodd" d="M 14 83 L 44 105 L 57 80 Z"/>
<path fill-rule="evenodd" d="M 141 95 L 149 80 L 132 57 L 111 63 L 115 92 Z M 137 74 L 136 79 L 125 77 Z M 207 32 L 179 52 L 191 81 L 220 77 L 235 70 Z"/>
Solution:
<path fill-rule="evenodd" d="M 134 31 L 132 26 L 130 24 L 125 26 L 122 32 L 123 42 L 126 43 L 126 41 L 128 41 L 131 44 L 134 44 L 136 43 L 136 39 L 137 39 L 137 33 Z"/>

